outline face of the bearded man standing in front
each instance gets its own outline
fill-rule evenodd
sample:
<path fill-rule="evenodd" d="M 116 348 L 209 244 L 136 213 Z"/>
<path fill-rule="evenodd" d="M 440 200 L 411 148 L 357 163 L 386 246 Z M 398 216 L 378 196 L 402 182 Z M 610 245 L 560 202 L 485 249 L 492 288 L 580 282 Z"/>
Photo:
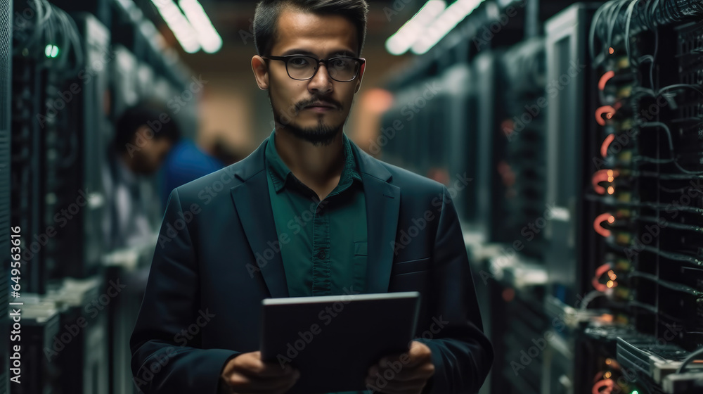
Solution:
<path fill-rule="evenodd" d="M 285 9 L 278 18 L 277 30 L 271 53 L 266 55 L 299 54 L 319 59 L 357 56 L 356 27 L 340 15 Z M 285 62 L 269 60 L 266 63 L 259 56 L 252 58 L 259 87 L 269 90 L 276 122 L 300 139 L 315 145 L 330 144 L 347 121 L 354 94 L 361 87 L 363 66 L 352 82 L 333 80 L 322 64 L 311 80 L 298 81 L 288 76 Z M 312 106 L 314 103 L 332 108 Z"/>

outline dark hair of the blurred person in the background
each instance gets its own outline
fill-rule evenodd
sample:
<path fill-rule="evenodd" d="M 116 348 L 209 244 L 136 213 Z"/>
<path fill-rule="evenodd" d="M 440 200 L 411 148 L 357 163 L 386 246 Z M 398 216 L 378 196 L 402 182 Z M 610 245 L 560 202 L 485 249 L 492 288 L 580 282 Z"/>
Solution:
<path fill-rule="evenodd" d="M 162 121 L 168 119 L 167 121 Z M 172 113 L 162 103 L 142 101 L 124 110 L 115 124 L 115 139 L 112 146 L 116 151 L 127 151 L 127 144 L 132 143 L 139 127 L 149 127 L 154 132 L 154 139 L 169 139 L 176 144 L 181 139 L 181 131 L 176 125 Z"/>

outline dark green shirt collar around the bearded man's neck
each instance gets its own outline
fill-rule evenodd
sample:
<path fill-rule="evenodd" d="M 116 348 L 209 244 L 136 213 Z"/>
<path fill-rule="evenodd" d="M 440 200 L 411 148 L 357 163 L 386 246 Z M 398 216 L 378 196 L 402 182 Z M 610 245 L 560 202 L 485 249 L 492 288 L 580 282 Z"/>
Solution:
<path fill-rule="evenodd" d="M 294 175 L 288 168 L 288 165 L 283 163 L 283 159 L 280 158 L 278 152 L 276 151 L 276 129 L 271 132 L 269 136 L 269 142 L 266 144 L 266 167 L 269 169 L 269 174 L 271 180 L 273 181 L 273 188 L 278 193 L 285 183 L 288 181 L 289 177 Z M 349 142 L 347 134 L 342 132 L 343 141 L 343 151 L 344 151 L 344 169 L 342 170 L 342 176 L 340 177 L 340 185 L 345 185 L 347 183 L 351 184 L 354 180 L 361 182 L 361 174 L 359 174 L 359 167 L 356 164 L 356 158 L 354 157 L 354 152 L 352 151 L 352 145 Z"/>

